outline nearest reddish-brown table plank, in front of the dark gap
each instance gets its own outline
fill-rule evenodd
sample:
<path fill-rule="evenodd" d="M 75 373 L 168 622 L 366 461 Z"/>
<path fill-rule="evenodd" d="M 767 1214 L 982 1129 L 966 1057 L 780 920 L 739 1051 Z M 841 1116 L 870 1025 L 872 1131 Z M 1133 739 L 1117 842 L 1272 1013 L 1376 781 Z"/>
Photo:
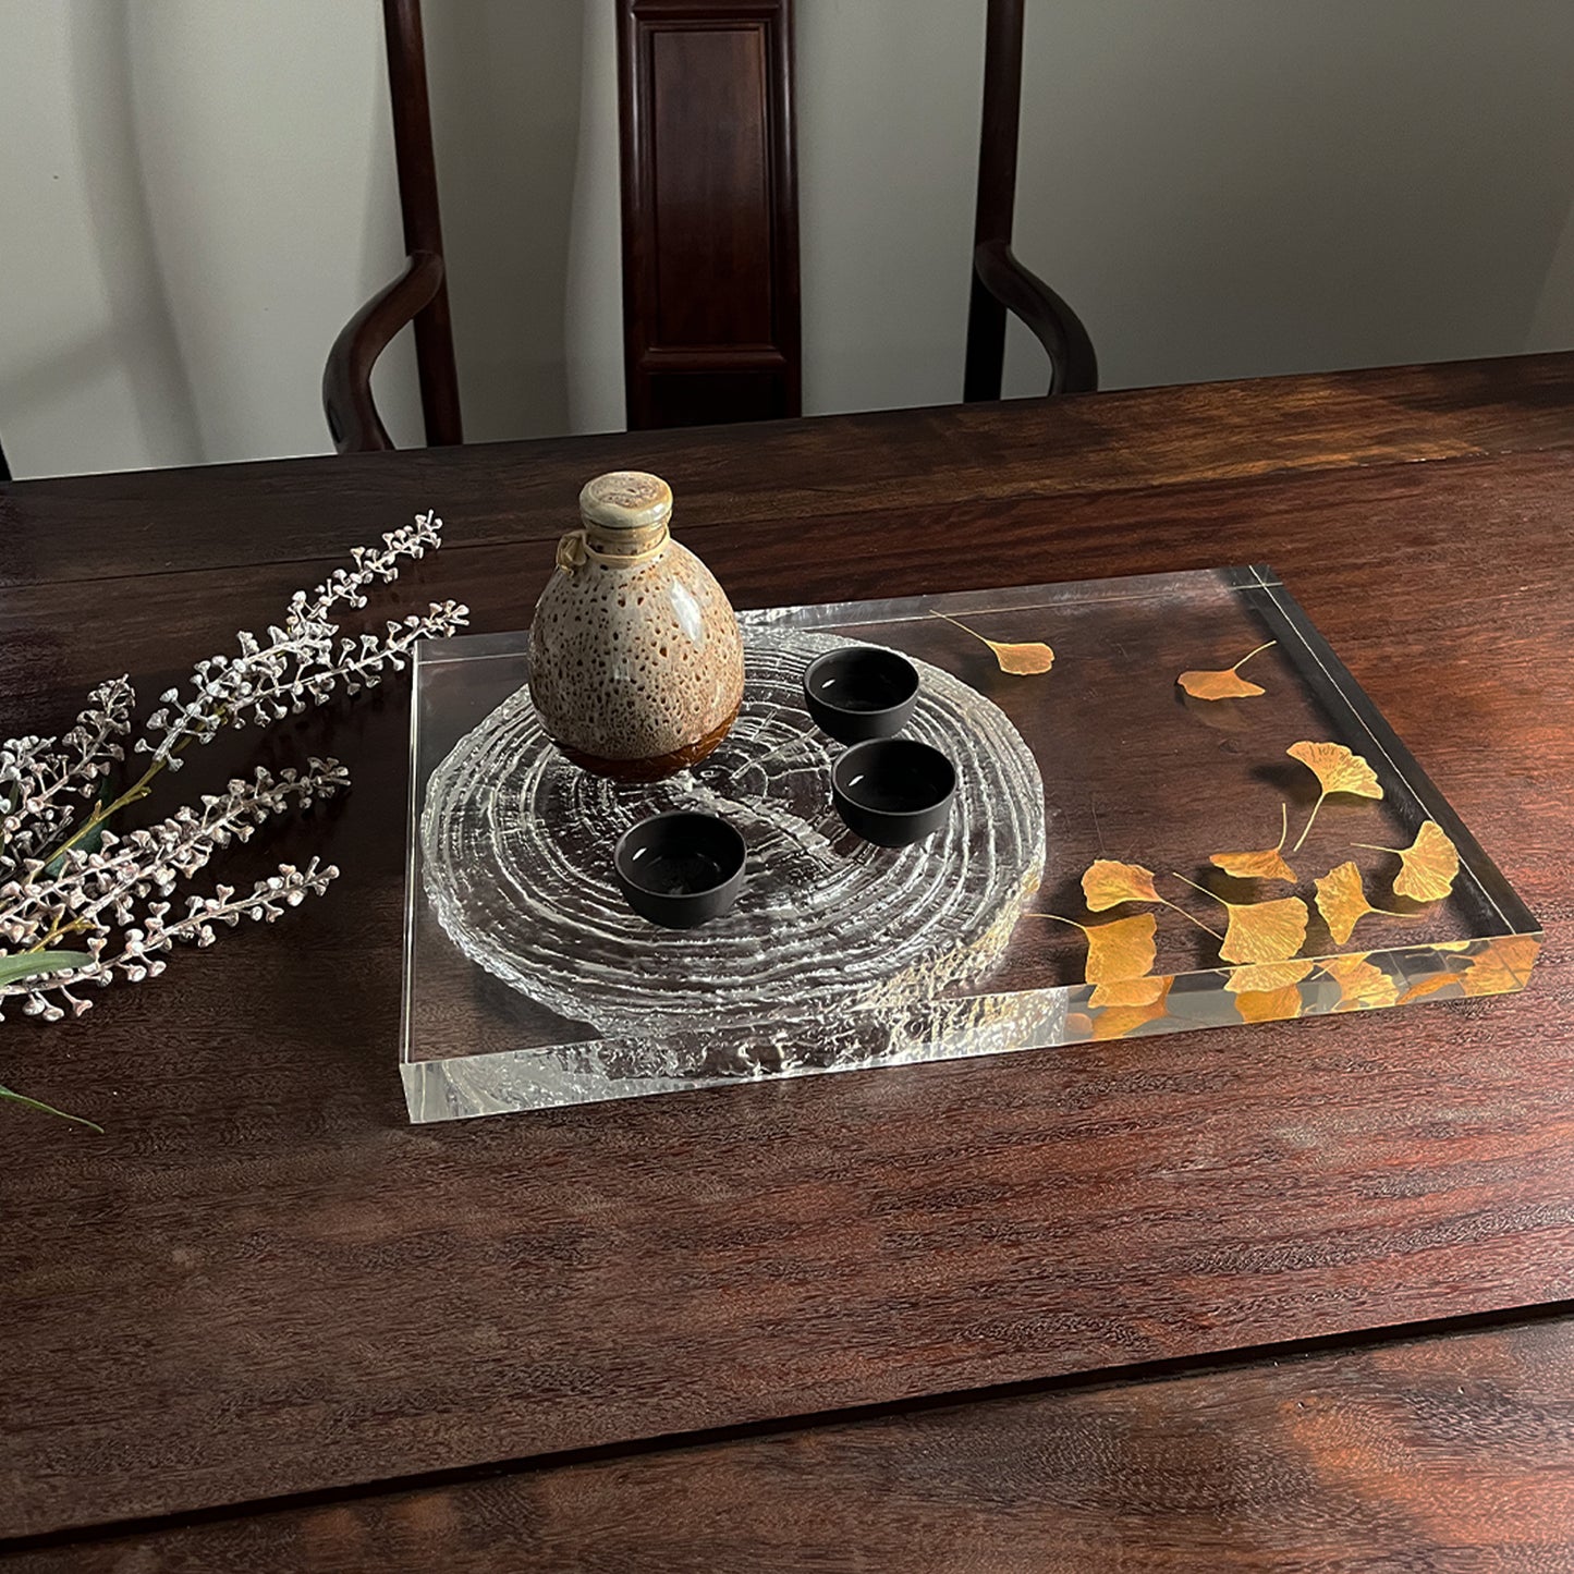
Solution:
<path fill-rule="evenodd" d="M 1561 1574 L 1574 1325 L 1264 1357 L 146 1527 L 6 1574 Z"/>

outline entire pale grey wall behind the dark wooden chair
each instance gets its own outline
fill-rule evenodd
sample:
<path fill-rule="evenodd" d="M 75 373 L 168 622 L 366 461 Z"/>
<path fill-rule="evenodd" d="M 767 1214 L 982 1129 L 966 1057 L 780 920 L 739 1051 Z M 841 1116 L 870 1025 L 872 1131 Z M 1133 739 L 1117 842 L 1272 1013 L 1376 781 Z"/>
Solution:
<path fill-rule="evenodd" d="M 612 6 L 425 11 L 467 436 L 617 427 Z M 811 412 L 960 394 L 982 11 L 798 0 Z M 1028 13 L 1017 249 L 1107 387 L 1574 343 L 1568 0 Z M 17 474 L 324 452 L 403 253 L 379 6 L 0 0 L 0 216 Z"/>

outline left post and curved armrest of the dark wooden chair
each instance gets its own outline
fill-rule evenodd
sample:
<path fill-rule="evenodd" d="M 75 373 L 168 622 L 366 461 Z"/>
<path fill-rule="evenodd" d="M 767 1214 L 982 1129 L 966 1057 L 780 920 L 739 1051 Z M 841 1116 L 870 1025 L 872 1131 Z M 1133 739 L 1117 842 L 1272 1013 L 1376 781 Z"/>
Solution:
<path fill-rule="evenodd" d="M 416 327 L 416 368 L 427 442 L 464 441 L 438 214 L 438 165 L 431 151 L 420 0 L 382 0 L 382 31 L 394 102 L 394 161 L 409 260 L 405 272 L 345 324 L 329 351 L 323 371 L 323 412 L 340 453 L 394 447 L 371 398 L 371 368 L 389 342 L 409 324 Z"/>

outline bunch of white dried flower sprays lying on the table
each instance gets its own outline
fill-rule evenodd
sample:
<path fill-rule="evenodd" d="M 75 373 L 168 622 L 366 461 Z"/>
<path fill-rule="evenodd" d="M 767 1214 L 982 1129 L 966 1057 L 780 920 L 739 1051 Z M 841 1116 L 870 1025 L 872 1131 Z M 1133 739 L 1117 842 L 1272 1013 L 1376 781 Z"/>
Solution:
<path fill-rule="evenodd" d="M 116 834 L 105 822 L 148 796 L 159 773 L 178 770 L 190 745 L 373 688 L 405 667 L 419 641 L 461 630 L 469 609 L 456 601 L 389 620 L 381 634 L 342 634 L 335 622 L 340 608 L 367 604 L 368 587 L 397 579 L 405 560 L 441 545 L 442 521 L 417 515 L 384 535 L 382 546 L 357 548 L 351 567 L 297 590 L 282 626 L 271 625 L 266 637 L 242 633 L 238 655 L 198 661 L 184 699 L 179 688 L 159 697 L 132 746 L 150 756 L 148 765 L 113 798 L 104 784 L 126 759 L 135 702 L 124 677 L 96 688 L 65 737 L 0 743 L 0 1004 L 20 1003 L 25 1015 L 46 1022 L 79 1015 L 91 1004 L 79 993 L 85 985 L 156 977 L 175 941 L 208 946 L 216 924 L 272 922 L 327 889 L 338 870 L 313 858 L 305 869 L 280 864 L 241 894 L 219 885 L 212 896 L 187 896 L 186 916 L 170 918 L 170 897 L 216 853 L 247 841 L 269 817 L 346 787 L 349 774 L 337 760 L 313 759 L 277 774 L 258 767 L 250 779 L 203 795 L 200 807 L 183 806 L 148 828 Z M 83 812 L 87 801 L 93 806 Z M 0 1099 L 49 1108 L 5 1086 Z"/>

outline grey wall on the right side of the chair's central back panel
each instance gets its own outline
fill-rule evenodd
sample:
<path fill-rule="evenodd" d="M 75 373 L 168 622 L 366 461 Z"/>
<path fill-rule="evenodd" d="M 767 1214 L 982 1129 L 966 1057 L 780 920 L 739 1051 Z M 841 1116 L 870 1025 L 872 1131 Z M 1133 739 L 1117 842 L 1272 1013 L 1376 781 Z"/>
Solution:
<path fill-rule="evenodd" d="M 960 398 L 982 11 L 801 0 L 811 409 Z M 1029 0 L 1025 55 L 1017 253 L 1102 386 L 1574 343 L 1569 0 Z"/>

